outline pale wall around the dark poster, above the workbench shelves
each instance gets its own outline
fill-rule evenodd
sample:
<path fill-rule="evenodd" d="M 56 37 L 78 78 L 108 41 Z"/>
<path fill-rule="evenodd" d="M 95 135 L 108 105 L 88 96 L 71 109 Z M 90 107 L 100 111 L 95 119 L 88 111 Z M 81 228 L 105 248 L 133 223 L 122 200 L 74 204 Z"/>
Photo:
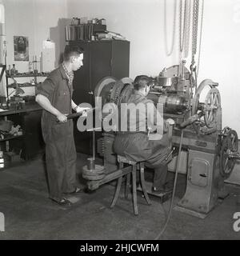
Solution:
<path fill-rule="evenodd" d="M 18 72 L 28 72 L 29 62 L 14 62 L 14 35 L 29 39 L 30 61 L 42 51 L 42 42 L 50 38 L 50 29 L 58 27 L 58 18 L 66 18 L 66 0 L 2 0 L 5 6 L 6 23 L 6 64 L 15 64 Z M 40 66 L 38 64 L 38 71 Z M 41 78 L 39 78 L 41 79 Z M 30 80 L 30 78 L 29 78 Z M 21 78 L 18 82 L 30 82 Z M 11 81 L 10 81 L 11 83 Z M 24 88 L 26 94 L 34 88 Z"/>

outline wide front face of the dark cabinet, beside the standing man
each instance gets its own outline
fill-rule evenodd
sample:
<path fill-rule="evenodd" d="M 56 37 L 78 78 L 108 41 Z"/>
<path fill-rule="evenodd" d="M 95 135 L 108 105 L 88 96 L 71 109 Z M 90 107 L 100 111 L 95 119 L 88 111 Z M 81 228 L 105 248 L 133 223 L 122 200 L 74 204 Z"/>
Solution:
<path fill-rule="evenodd" d="M 110 42 L 78 42 L 84 50 L 83 66 L 74 74 L 73 100 L 76 104 L 87 102 L 94 107 L 94 88 L 98 82 L 111 73 Z M 74 141 L 76 150 L 92 154 L 92 133 L 79 132 L 78 119 L 74 119 Z"/>

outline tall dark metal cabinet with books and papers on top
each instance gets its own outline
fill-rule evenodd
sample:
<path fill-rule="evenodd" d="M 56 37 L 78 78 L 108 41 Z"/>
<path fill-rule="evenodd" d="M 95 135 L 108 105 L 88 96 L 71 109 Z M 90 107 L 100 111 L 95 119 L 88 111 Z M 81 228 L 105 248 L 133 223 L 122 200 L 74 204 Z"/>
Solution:
<path fill-rule="evenodd" d="M 112 76 L 120 79 L 129 77 L 130 42 L 106 40 L 93 42 L 69 42 L 81 46 L 84 50 L 83 66 L 74 74 L 73 100 L 76 104 L 86 102 L 94 106 L 94 88 L 98 82 Z M 84 154 L 91 154 L 90 132 L 79 132 L 74 120 L 74 138 L 76 149 Z M 97 132 L 98 138 L 98 132 Z"/>

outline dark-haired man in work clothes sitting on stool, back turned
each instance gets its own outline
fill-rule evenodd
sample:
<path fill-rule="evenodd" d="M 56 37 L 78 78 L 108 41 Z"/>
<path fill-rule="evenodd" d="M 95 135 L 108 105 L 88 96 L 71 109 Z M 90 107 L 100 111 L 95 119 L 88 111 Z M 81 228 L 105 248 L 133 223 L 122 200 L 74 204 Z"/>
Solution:
<path fill-rule="evenodd" d="M 144 106 L 148 103 L 154 104 L 153 101 L 146 98 L 149 91 L 150 78 L 145 75 L 137 76 L 134 80 L 133 94 L 126 100 L 126 103 L 134 103 L 137 105 L 141 102 Z M 150 140 L 148 133 L 149 127 L 147 125 L 149 122 L 147 122 L 148 117 L 146 110 L 140 108 L 136 115 L 137 118 L 134 124 L 135 131 L 131 131 L 133 130 L 131 129 L 133 128 L 131 127 L 133 124 L 131 124 L 128 118 L 127 131 L 119 131 L 114 140 L 114 152 L 125 156 L 129 160 L 136 162 L 144 161 L 146 167 L 154 169 L 153 192 L 168 192 L 171 190 L 171 188 L 166 186 L 167 162 L 165 158 L 171 150 L 169 147 L 168 134 L 163 134 L 160 140 Z M 168 130 L 170 124 L 174 124 L 174 120 L 168 119 L 167 122 L 163 121 L 163 130 L 165 132 Z M 140 128 L 142 126 L 145 126 L 145 132 Z"/>

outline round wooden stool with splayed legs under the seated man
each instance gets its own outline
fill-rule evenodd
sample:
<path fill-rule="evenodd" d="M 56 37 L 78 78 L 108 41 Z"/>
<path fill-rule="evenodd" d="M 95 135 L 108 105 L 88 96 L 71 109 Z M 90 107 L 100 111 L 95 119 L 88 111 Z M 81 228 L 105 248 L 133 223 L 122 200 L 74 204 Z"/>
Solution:
<path fill-rule="evenodd" d="M 126 174 L 126 188 L 125 188 L 125 198 L 128 198 L 129 190 L 130 190 L 130 174 L 132 174 L 132 190 L 133 190 L 133 202 L 134 202 L 134 214 L 138 215 L 138 202 L 137 202 L 137 184 L 136 184 L 136 170 L 137 166 L 140 167 L 140 178 L 141 178 L 141 185 L 142 185 L 142 193 L 144 194 L 144 197 L 146 198 L 146 202 L 150 205 L 150 198 L 146 192 L 146 185 L 145 185 L 145 179 L 144 179 L 144 162 L 134 162 L 126 159 L 125 157 L 118 155 L 118 162 L 119 162 L 119 169 L 123 168 L 123 164 L 127 163 L 130 166 L 132 166 L 132 170 L 130 173 Z M 118 178 L 118 184 L 116 187 L 116 191 L 114 194 L 114 199 L 110 205 L 110 208 L 113 208 L 115 203 L 118 200 L 118 196 L 120 193 L 121 185 L 122 185 L 122 176 Z"/>

